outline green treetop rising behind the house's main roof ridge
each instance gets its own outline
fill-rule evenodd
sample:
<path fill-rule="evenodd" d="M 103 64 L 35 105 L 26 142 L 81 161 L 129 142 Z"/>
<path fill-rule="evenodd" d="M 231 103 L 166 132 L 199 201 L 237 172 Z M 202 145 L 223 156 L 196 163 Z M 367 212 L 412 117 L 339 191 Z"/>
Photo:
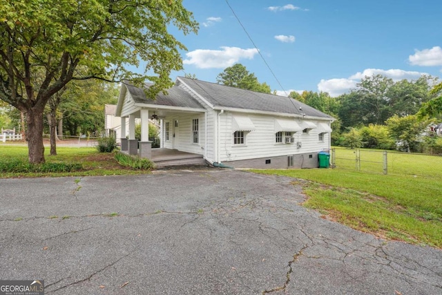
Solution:
<path fill-rule="evenodd" d="M 271 93 L 270 86 L 265 82 L 262 84 L 258 82 L 258 78 L 255 77 L 255 74 L 250 73 L 242 64 L 234 64 L 233 66 L 229 66 L 229 68 L 225 68 L 224 71 L 216 77 L 216 82 L 250 91 Z"/>

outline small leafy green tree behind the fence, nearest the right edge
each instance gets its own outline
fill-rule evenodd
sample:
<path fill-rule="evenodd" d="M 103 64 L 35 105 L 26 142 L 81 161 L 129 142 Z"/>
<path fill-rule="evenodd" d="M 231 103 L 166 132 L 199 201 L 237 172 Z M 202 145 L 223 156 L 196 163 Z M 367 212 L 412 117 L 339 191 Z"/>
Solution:
<path fill-rule="evenodd" d="M 387 129 L 391 137 L 396 140 L 397 147 L 401 151 L 418 151 L 421 133 L 425 131 L 428 120 L 419 121 L 416 115 L 398 117 L 394 115 L 387 120 Z"/>

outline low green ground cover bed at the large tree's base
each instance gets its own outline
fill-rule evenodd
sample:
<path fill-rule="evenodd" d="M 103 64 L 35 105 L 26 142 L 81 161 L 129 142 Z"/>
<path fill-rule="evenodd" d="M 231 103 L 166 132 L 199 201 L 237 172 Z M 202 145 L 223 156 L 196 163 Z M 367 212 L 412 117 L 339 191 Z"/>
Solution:
<path fill-rule="evenodd" d="M 80 171 L 80 163 L 31 164 L 23 159 L 0 160 L 0 173 L 57 173 Z"/>

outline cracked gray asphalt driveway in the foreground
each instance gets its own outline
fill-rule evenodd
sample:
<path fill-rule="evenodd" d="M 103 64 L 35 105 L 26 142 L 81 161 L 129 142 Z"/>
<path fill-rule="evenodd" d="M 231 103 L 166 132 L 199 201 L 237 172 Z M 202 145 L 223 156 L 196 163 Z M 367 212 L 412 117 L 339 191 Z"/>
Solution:
<path fill-rule="evenodd" d="M 442 294 L 442 251 L 300 207 L 233 170 L 0 180 L 0 279 L 46 294 Z"/>

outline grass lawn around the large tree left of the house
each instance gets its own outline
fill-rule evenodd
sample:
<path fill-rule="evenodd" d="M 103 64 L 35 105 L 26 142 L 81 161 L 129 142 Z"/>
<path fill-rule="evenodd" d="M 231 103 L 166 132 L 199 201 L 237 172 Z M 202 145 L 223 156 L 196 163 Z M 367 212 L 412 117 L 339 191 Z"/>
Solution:
<path fill-rule="evenodd" d="M 50 149 L 45 148 L 47 163 L 80 163 L 81 171 L 57 173 L 4 173 L 0 178 L 42 177 L 42 176 L 95 176 L 95 175 L 124 175 L 148 173 L 148 170 L 127 169 L 120 165 L 113 153 L 99 153 L 93 147 L 57 147 L 57 155 L 49 155 Z M 28 159 L 28 147 L 11 144 L 0 144 L 0 162 Z"/>

